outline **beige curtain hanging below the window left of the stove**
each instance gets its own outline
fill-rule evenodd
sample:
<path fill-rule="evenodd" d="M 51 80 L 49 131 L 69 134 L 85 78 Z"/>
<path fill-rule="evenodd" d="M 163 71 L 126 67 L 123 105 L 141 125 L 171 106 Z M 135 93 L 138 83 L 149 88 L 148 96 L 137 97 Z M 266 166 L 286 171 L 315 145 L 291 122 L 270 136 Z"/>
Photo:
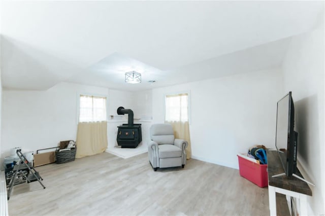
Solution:
<path fill-rule="evenodd" d="M 107 121 L 79 122 L 76 158 L 95 155 L 107 149 Z"/>

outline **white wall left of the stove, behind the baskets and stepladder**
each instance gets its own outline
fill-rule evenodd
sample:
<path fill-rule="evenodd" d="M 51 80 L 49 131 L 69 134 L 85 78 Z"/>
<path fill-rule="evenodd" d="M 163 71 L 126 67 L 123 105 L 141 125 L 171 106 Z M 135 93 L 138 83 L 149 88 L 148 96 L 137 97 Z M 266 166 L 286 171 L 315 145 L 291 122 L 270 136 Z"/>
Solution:
<path fill-rule="evenodd" d="M 77 93 L 108 95 L 108 89 L 60 83 L 46 91 L 3 91 L 2 157 L 11 148 L 56 147 L 77 133 Z"/>

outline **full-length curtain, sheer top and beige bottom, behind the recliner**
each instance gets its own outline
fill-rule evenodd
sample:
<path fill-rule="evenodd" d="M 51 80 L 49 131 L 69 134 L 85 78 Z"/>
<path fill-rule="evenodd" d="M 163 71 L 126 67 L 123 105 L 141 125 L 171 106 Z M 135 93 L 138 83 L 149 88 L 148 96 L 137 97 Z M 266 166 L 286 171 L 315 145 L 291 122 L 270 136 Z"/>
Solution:
<path fill-rule="evenodd" d="M 165 98 L 165 123 L 173 126 L 175 138 L 188 142 L 186 158 L 191 157 L 191 142 L 188 124 L 188 94 L 166 95 Z"/>

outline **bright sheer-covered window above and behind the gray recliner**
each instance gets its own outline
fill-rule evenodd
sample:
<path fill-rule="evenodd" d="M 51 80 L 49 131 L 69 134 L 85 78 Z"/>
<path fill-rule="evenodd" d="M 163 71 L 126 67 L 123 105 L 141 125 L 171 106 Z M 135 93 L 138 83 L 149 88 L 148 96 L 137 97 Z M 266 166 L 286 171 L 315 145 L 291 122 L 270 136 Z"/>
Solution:
<path fill-rule="evenodd" d="M 188 121 L 188 94 L 166 95 L 165 98 L 165 121 L 187 122 Z"/>

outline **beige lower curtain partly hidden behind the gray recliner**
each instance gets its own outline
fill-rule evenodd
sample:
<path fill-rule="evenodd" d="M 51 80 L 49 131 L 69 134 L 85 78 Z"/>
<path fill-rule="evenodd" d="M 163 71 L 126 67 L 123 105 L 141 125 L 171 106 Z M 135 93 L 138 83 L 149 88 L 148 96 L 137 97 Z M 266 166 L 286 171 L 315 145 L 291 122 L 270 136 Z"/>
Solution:
<path fill-rule="evenodd" d="M 190 159 L 191 158 L 191 140 L 189 137 L 189 125 L 188 122 L 166 122 L 167 124 L 171 124 L 173 126 L 173 130 L 174 130 L 174 136 L 175 138 L 178 139 L 184 139 L 187 141 L 188 146 L 185 149 L 186 152 L 186 159 Z"/>

